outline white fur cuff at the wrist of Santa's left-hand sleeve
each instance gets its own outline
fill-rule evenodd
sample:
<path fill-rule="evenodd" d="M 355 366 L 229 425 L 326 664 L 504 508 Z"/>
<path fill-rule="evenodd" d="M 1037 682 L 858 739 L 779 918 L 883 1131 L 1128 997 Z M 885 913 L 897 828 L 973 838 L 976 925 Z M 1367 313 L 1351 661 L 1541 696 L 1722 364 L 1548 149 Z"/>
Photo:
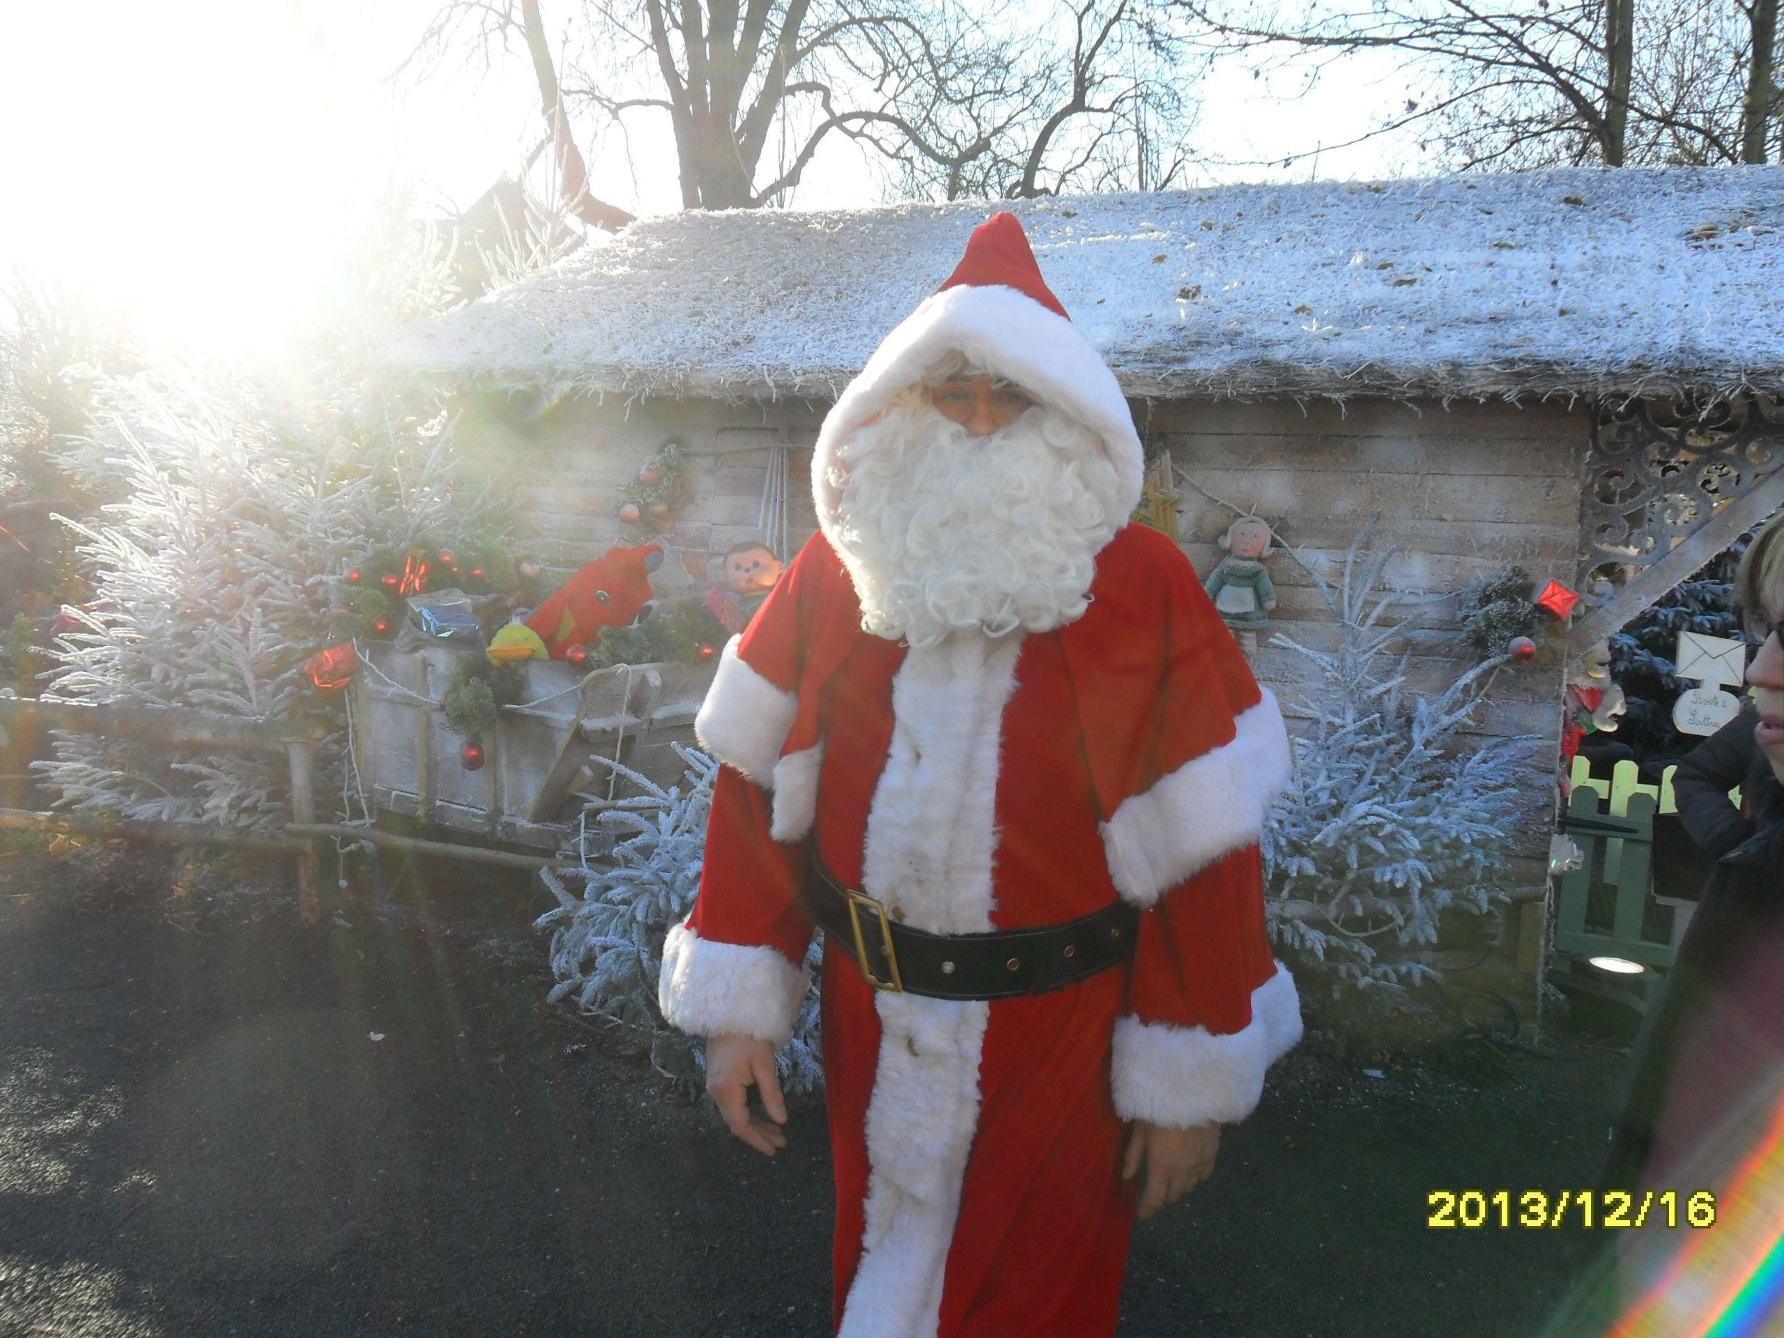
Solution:
<path fill-rule="evenodd" d="M 810 983 L 774 947 L 721 944 L 676 924 L 664 940 L 657 1003 L 690 1037 L 755 1037 L 780 1049 Z"/>

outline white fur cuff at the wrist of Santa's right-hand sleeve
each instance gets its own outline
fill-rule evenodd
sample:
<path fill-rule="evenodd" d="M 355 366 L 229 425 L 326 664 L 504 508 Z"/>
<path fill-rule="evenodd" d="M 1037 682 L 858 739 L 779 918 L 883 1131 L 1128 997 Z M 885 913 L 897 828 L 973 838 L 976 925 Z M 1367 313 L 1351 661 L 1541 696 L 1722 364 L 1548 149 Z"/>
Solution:
<path fill-rule="evenodd" d="M 1115 1024 L 1110 1083 L 1115 1113 L 1186 1129 L 1251 1115 L 1263 1095 L 1263 1070 L 1301 1040 L 1301 997 L 1281 962 L 1252 990 L 1251 1022 L 1217 1037 L 1208 1028 L 1177 1028 L 1124 1017 Z"/>

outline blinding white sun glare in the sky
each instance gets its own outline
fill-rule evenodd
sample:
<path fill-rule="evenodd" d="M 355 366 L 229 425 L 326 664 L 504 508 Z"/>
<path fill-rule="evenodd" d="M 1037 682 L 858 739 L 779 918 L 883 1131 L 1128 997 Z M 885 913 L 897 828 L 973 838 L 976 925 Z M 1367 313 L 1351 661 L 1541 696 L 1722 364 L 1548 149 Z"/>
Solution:
<path fill-rule="evenodd" d="M 371 27 L 359 9 L 9 7 L 0 257 L 64 275 L 152 337 L 214 353 L 275 344 L 389 180 L 394 134 L 376 75 L 357 55 L 343 68 L 319 36 L 346 36 L 355 52 Z"/>

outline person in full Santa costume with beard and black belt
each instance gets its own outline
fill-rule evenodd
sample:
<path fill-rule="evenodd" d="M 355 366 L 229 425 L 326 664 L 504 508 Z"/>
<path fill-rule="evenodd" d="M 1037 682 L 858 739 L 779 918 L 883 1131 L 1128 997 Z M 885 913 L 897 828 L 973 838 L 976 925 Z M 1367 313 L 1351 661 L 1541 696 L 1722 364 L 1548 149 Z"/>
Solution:
<path fill-rule="evenodd" d="M 997 214 L 826 417 L 822 533 L 699 712 L 724 765 L 660 1001 L 772 1156 L 826 929 L 851 1338 L 1111 1333 L 1136 1208 L 1208 1174 L 1301 1037 L 1258 855 L 1283 717 L 1127 524 L 1140 483 L 1113 375 Z"/>

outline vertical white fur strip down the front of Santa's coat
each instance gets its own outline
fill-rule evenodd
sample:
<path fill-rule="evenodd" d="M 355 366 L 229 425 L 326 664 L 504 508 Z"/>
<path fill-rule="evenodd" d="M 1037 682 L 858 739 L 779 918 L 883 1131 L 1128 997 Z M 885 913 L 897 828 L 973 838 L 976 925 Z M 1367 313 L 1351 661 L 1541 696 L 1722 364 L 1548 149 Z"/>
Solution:
<path fill-rule="evenodd" d="M 1020 637 L 954 633 L 892 680 L 862 887 L 931 933 L 992 928 L 997 751 Z M 880 994 L 862 1260 L 840 1338 L 933 1338 L 979 1119 L 990 1004 Z"/>

